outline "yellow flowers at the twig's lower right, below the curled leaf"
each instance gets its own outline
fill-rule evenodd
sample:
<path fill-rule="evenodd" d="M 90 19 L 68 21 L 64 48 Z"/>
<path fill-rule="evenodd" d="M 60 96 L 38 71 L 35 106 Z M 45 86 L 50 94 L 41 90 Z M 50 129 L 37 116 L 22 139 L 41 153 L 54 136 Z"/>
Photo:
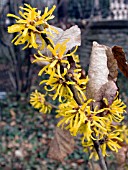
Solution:
<path fill-rule="evenodd" d="M 125 108 L 126 105 L 121 101 L 121 99 L 118 99 L 118 94 L 115 97 L 115 100 L 111 105 L 108 105 L 107 99 L 103 99 L 106 107 L 104 107 L 104 116 L 103 118 L 106 118 L 106 120 L 103 122 L 104 127 L 106 129 L 106 132 L 102 129 L 96 129 L 93 127 L 93 132 L 95 134 L 96 139 L 99 138 L 99 143 L 101 146 L 102 154 L 103 156 L 107 156 L 107 147 L 115 152 L 118 152 L 118 149 L 121 148 L 120 143 L 124 139 L 124 132 L 122 132 L 123 128 L 119 128 L 118 122 L 121 122 L 124 117 L 123 113 L 126 112 Z M 126 127 L 124 127 L 126 128 Z M 92 130 L 92 129 L 91 129 Z M 101 134 L 100 134 L 101 132 Z M 85 142 L 82 143 L 84 150 L 86 151 L 87 148 L 90 148 L 91 155 L 94 156 L 96 159 L 98 159 L 98 156 L 96 154 L 96 151 L 94 150 L 94 143 L 91 138 Z"/>

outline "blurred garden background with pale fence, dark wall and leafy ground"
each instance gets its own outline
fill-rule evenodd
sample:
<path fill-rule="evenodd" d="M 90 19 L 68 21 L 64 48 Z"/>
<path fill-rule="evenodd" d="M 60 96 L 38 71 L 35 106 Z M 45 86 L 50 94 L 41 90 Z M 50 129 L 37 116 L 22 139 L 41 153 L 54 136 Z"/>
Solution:
<path fill-rule="evenodd" d="M 82 45 L 81 65 L 87 71 L 92 42 L 122 46 L 128 56 L 128 0 L 0 0 L 0 170 L 91 169 L 79 139 L 64 163 L 46 158 L 56 125 L 54 112 L 42 116 L 29 105 L 29 94 L 39 88 L 39 66 L 31 64 L 32 49 L 14 46 L 7 27 L 14 23 L 7 13 L 18 15 L 24 3 L 44 10 L 57 6 L 51 24 L 64 30 L 78 25 Z M 118 87 L 128 104 L 128 82 L 119 72 Z M 112 169 L 118 166 L 111 158 Z M 127 161 L 126 161 L 127 164 Z"/>

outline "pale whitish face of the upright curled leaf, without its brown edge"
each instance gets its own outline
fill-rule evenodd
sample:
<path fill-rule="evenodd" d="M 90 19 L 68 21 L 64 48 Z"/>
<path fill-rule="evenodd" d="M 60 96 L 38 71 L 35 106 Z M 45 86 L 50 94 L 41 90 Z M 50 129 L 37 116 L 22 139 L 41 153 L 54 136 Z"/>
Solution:
<path fill-rule="evenodd" d="M 106 47 L 93 42 L 90 66 L 88 71 L 89 83 L 87 97 L 94 98 L 99 89 L 108 82 L 109 70 L 107 67 Z"/>

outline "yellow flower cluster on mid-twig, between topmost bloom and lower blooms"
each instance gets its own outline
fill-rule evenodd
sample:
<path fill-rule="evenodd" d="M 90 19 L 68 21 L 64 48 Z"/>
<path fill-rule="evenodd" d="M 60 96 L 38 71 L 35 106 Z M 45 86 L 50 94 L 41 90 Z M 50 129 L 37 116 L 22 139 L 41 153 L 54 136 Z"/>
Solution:
<path fill-rule="evenodd" d="M 86 86 L 88 77 L 87 78 L 81 78 L 81 73 L 78 73 L 77 71 L 81 71 L 81 69 L 77 69 L 78 66 L 75 67 L 73 70 L 71 67 L 71 64 L 67 60 L 67 57 L 72 57 L 75 61 L 76 56 L 74 55 L 77 47 L 74 51 L 66 54 L 66 43 L 68 40 L 57 43 L 54 45 L 53 43 L 51 45 L 48 45 L 47 49 L 51 52 L 50 56 L 44 56 L 41 54 L 40 51 L 38 51 L 40 57 L 35 55 L 35 60 L 33 62 L 48 62 L 46 66 L 44 66 L 40 72 L 39 76 L 41 76 L 43 73 L 49 75 L 49 78 L 47 80 L 43 80 L 40 82 L 40 84 L 45 83 L 45 90 L 46 91 L 55 91 L 55 94 L 53 95 L 53 100 L 55 100 L 59 96 L 59 102 L 62 102 L 62 100 L 66 100 L 68 98 L 73 97 L 73 93 L 70 89 L 70 85 L 75 86 L 77 89 L 77 92 L 82 98 L 84 98 L 83 89 L 85 89 L 84 86 Z M 77 58 L 78 61 L 78 58 Z M 72 74 L 70 70 L 72 69 Z M 67 80 L 66 75 L 70 75 L 70 80 Z M 73 81 L 73 79 L 75 81 Z M 79 86 L 79 84 L 82 86 L 82 88 Z"/>

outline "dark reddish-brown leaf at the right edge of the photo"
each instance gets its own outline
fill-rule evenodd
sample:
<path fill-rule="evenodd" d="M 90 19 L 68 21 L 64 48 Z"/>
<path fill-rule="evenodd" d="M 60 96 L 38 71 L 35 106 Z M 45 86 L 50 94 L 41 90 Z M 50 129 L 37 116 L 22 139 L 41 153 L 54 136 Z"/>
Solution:
<path fill-rule="evenodd" d="M 128 63 L 123 48 L 120 46 L 114 46 L 112 47 L 112 52 L 114 58 L 117 60 L 118 68 L 125 75 L 125 77 L 128 78 Z"/>

